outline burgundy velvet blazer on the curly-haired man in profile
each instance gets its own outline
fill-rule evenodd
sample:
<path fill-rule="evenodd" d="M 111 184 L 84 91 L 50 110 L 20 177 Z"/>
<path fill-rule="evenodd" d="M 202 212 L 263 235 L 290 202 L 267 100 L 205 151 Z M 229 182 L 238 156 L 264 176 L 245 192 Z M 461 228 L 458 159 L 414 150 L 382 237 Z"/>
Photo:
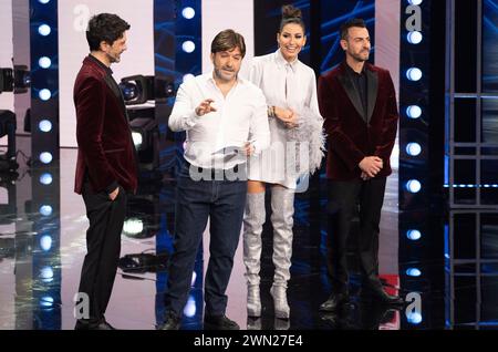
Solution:
<path fill-rule="evenodd" d="M 85 170 L 94 193 L 117 185 L 136 191 L 137 167 L 126 110 L 115 83 L 85 58 L 74 83 L 77 163 L 74 191 L 82 193 Z"/>

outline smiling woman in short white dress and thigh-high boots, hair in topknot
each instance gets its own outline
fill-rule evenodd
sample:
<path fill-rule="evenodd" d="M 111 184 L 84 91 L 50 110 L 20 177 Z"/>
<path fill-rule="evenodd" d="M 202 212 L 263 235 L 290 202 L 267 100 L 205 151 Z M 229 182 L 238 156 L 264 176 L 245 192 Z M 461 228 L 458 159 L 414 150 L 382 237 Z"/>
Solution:
<path fill-rule="evenodd" d="M 298 178 L 320 166 L 323 156 L 323 120 L 319 112 L 314 72 L 298 60 L 307 41 L 301 10 L 292 6 L 282 7 L 277 41 L 277 52 L 255 58 L 249 74 L 249 80 L 267 97 L 271 146 L 259 157 L 249 161 L 243 262 L 248 284 L 248 315 L 260 317 L 261 231 L 266 220 L 264 191 L 266 186 L 270 185 L 276 268 L 270 293 L 276 317 L 288 319 L 287 282 L 290 279 L 292 255 L 294 191 Z"/>

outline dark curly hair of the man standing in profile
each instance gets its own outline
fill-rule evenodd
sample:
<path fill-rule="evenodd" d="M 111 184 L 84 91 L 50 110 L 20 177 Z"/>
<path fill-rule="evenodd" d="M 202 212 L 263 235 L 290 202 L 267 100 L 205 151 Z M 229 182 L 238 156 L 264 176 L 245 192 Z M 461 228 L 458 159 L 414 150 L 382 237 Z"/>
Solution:
<path fill-rule="evenodd" d="M 101 42 L 112 45 L 114 41 L 123 38 L 125 31 L 129 29 L 129 24 L 121 19 L 117 14 L 100 13 L 92 17 L 86 29 L 86 41 L 90 51 L 101 49 Z"/>

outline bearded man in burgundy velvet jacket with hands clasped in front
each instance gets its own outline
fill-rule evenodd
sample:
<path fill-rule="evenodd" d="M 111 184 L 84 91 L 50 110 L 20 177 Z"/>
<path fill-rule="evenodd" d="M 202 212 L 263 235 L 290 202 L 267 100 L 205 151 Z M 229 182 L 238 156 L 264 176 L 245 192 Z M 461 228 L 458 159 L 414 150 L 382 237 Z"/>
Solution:
<path fill-rule="evenodd" d="M 319 103 L 328 134 L 330 234 L 328 265 L 331 297 L 320 307 L 334 311 L 349 301 L 346 239 L 360 203 L 360 267 L 363 289 L 385 303 L 402 303 L 387 294 L 378 279 L 378 232 L 390 156 L 397 131 L 397 106 L 387 70 L 366 61 L 370 35 L 363 20 L 341 28 L 345 61 L 320 77 Z"/>

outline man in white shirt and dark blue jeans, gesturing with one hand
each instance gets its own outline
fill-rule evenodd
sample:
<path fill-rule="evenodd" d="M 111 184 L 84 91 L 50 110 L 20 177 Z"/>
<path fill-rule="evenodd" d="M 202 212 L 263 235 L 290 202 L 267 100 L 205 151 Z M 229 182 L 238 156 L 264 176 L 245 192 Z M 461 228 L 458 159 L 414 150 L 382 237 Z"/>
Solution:
<path fill-rule="evenodd" d="M 185 159 L 177 185 L 175 252 L 170 259 L 163 330 L 177 330 L 190 290 L 203 232 L 210 218 L 205 280 L 205 329 L 237 330 L 225 315 L 234 256 L 247 194 L 247 157 L 270 144 L 264 95 L 238 76 L 246 54 L 232 30 L 211 43 L 214 71 L 184 82 L 169 116 L 173 131 L 186 131 Z"/>

